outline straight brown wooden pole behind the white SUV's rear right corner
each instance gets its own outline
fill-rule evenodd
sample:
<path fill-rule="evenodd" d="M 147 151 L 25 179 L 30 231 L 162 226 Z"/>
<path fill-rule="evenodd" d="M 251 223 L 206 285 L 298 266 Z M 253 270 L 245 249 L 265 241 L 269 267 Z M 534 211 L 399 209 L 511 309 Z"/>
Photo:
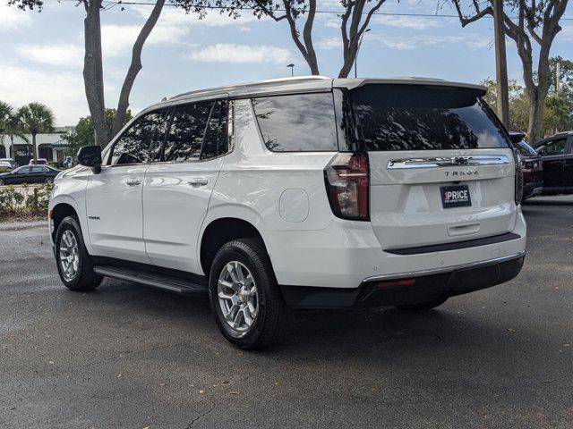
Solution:
<path fill-rule="evenodd" d="M 493 0 L 493 32 L 495 35 L 495 76 L 497 80 L 498 116 L 509 126 L 508 62 L 505 53 L 503 0 Z"/>

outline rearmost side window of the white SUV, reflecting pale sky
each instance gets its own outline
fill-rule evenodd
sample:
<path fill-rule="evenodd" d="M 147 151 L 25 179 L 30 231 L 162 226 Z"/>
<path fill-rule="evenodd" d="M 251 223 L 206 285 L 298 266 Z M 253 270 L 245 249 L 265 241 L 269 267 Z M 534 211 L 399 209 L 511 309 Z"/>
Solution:
<path fill-rule="evenodd" d="M 252 105 L 269 150 L 338 150 L 331 93 L 253 98 Z"/>

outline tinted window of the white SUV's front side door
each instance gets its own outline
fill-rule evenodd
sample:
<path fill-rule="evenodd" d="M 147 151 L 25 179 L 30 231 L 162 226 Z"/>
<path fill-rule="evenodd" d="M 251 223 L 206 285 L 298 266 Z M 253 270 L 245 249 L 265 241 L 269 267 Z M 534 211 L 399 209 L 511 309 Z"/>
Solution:
<path fill-rule="evenodd" d="M 110 165 L 145 164 L 150 161 L 152 154 L 157 151 L 155 139 L 164 132 L 165 122 L 161 112 L 151 112 L 141 116 L 133 125 L 124 131 L 122 137 L 111 149 Z"/>

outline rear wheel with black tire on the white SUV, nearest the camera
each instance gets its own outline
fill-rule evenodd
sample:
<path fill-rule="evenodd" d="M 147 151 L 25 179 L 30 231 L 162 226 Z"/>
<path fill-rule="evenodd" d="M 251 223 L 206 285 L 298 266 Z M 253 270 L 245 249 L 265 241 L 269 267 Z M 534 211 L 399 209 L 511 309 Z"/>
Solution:
<path fill-rule="evenodd" d="M 211 309 L 227 341 L 263 349 L 280 340 L 288 309 L 261 240 L 233 240 L 220 248 L 209 284 Z"/>

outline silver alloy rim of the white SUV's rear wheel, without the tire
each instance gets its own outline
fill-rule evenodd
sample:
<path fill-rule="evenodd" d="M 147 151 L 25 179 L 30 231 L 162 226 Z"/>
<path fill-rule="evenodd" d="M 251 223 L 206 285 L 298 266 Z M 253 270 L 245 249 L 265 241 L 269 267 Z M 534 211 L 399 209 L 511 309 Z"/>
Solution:
<path fill-rule="evenodd" d="M 251 271 L 238 261 L 228 262 L 218 276 L 218 304 L 235 332 L 247 332 L 257 317 L 259 294 Z"/>

